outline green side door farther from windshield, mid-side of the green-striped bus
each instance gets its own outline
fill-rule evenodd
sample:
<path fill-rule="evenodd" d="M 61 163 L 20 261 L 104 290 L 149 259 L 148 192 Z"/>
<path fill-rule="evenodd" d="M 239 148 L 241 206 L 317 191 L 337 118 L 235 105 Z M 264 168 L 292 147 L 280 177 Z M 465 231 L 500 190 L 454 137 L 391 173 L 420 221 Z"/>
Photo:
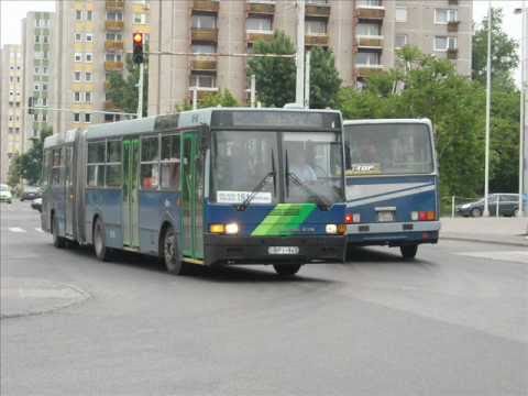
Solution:
<path fill-rule="evenodd" d="M 123 246 L 140 246 L 139 229 L 139 167 L 140 140 L 123 141 Z"/>

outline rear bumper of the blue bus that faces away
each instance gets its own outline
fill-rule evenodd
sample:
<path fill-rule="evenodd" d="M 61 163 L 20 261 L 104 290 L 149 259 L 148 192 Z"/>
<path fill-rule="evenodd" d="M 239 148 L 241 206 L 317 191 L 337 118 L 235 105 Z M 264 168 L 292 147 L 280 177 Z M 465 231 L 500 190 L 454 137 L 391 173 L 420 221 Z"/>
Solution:
<path fill-rule="evenodd" d="M 349 244 L 402 246 L 406 244 L 437 243 L 440 221 L 405 223 L 349 224 Z"/>

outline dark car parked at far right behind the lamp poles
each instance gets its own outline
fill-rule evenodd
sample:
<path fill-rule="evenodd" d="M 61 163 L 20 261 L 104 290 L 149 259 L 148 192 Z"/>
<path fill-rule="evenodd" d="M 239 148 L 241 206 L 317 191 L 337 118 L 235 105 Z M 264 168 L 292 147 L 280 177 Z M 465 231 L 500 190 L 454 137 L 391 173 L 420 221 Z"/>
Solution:
<path fill-rule="evenodd" d="M 522 200 L 526 202 L 526 197 Z M 487 197 L 490 216 L 517 216 L 519 211 L 518 194 L 491 194 Z M 457 215 L 463 217 L 481 217 L 484 213 L 484 198 L 457 206 Z"/>

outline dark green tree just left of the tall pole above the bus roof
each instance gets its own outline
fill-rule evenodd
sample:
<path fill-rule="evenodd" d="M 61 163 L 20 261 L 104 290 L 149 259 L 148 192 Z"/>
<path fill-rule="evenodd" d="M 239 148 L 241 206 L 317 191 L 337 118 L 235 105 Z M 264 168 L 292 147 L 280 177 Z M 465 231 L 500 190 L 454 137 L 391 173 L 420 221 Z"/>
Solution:
<path fill-rule="evenodd" d="M 295 54 L 292 40 L 275 32 L 268 42 L 257 41 L 255 54 Z M 258 100 L 265 107 L 283 107 L 295 101 L 294 58 L 254 57 L 248 62 L 248 75 L 255 75 Z"/>

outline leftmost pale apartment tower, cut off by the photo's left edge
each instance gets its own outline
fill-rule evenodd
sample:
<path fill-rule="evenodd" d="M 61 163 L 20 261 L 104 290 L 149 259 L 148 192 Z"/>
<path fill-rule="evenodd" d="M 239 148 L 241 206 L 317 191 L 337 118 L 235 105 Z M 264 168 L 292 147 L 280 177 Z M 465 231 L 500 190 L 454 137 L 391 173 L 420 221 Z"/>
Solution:
<path fill-rule="evenodd" d="M 4 45 L 0 53 L 0 180 L 6 183 L 11 161 L 23 151 L 23 61 L 20 45 Z"/>

